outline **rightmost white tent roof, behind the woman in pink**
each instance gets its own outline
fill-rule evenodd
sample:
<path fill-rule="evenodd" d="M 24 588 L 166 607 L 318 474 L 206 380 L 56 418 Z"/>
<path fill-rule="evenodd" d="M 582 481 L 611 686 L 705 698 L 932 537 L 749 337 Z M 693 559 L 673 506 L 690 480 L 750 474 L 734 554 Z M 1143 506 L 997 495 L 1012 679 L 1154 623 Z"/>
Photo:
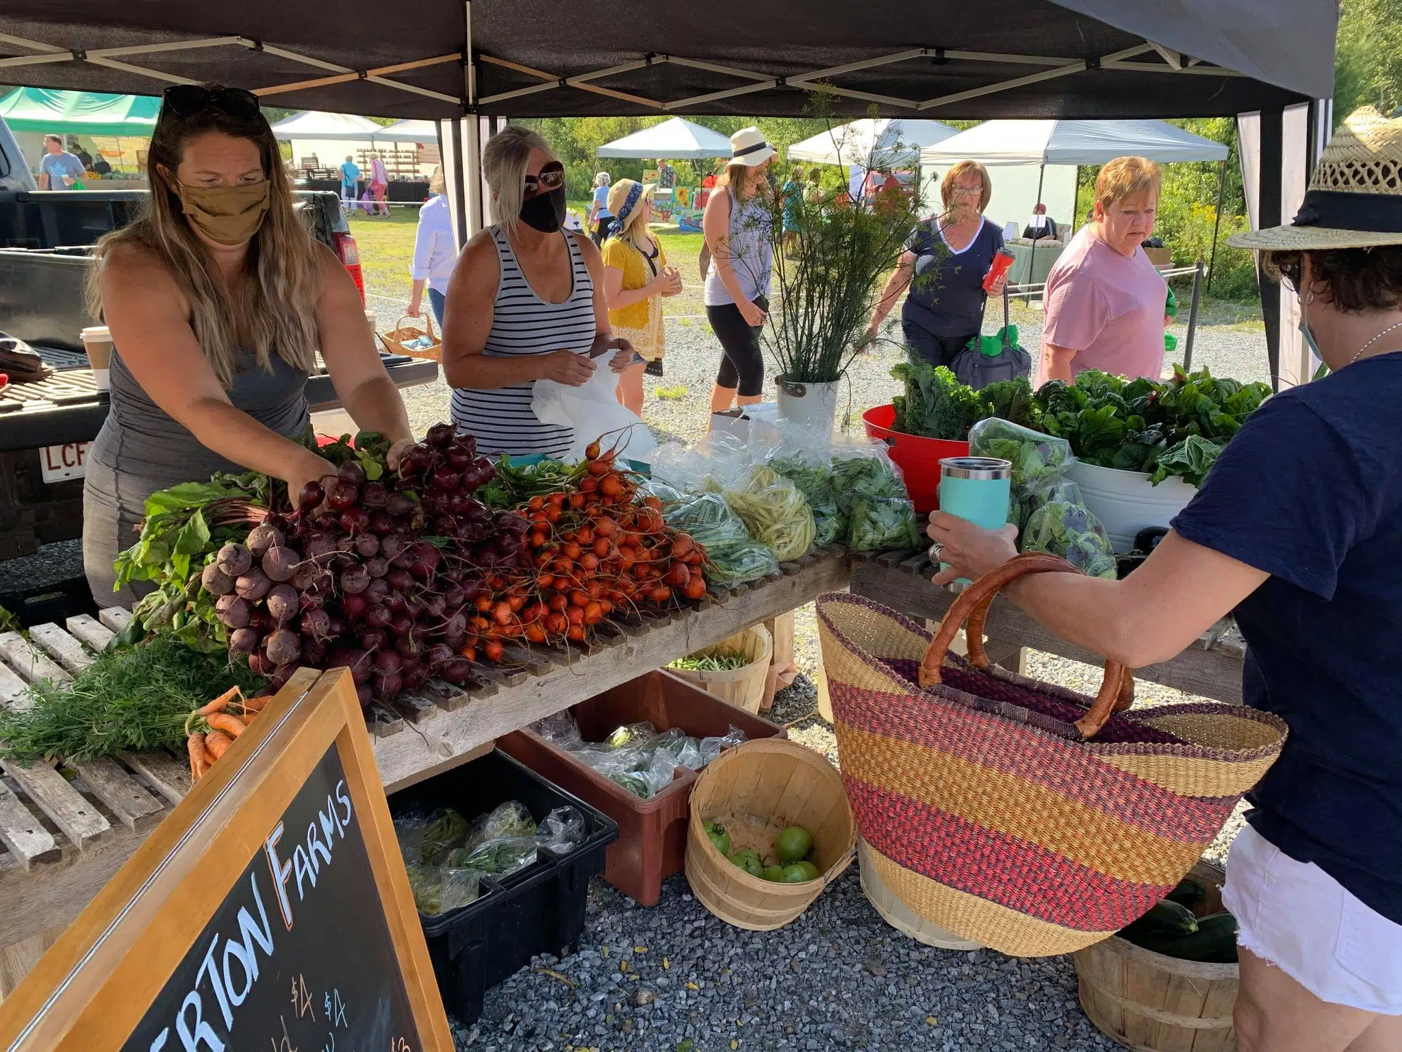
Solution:
<path fill-rule="evenodd" d="M 1223 161 L 1227 147 L 1165 121 L 986 121 L 927 146 L 920 160 L 1077 166 L 1105 164 L 1126 154 L 1161 164 Z"/>

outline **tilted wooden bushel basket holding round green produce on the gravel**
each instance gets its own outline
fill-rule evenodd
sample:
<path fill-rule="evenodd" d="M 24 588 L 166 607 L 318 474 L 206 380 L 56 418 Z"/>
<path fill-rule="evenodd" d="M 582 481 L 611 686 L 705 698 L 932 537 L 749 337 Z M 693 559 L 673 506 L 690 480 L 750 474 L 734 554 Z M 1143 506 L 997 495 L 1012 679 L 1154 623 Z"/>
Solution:
<path fill-rule="evenodd" d="M 732 850 L 770 843 L 785 826 L 813 835 L 812 863 L 820 877 L 778 884 L 733 865 L 705 835 L 721 821 Z M 784 927 L 845 870 L 857 851 L 857 822 L 843 778 L 820 753 L 782 738 L 746 742 L 721 753 L 691 790 L 687 881 L 697 899 L 728 924 L 750 931 Z"/>

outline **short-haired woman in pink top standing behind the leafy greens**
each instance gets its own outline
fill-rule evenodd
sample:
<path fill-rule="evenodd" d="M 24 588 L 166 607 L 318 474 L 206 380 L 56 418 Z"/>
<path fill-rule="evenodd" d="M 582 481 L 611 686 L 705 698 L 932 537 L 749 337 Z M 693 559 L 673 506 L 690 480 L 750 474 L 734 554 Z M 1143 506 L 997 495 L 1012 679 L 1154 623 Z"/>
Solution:
<path fill-rule="evenodd" d="M 1131 380 L 1164 370 L 1168 289 L 1140 243 L 1154 233 L 1154 161 L 1116 157 L 1095 180 L 1095 216 L 1047 275 L 1040 380 L 1084 369 Z"/>

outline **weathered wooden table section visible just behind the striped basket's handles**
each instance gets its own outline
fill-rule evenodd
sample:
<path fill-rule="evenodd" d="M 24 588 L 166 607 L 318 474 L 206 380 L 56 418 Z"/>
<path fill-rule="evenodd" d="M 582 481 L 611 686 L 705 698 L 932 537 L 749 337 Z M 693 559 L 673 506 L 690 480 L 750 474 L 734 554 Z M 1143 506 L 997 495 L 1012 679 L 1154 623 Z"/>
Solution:
<path fill-rule="evenodd" d="M 952 592 L 930 584 L 937 569 L 924 550 L 887 551 L 873 557 L 852 555 L 851 564 L 854 595 L 883 603 L 907 617 L 938 621 L 955 600 Z M 1002 598 L 995 599 L 988 609 L 984 631 L 990 640 L 1004 644 L 1030 647 L 1089 665 L 1102 663 L 1101 658 L 1043 628 Z M 1199 644 L 1189 647 L 1176 658 L 1134 669 L 1134 676 L 1189 694 L 1241 704 L 1245 654 L 1246 644 L 1241 633 L 1235 627 L 1223 626 L 1207 633 Z M 991 648 L 990 656 L 994 656 Z M 1004 658 L 998 663 L 1008 665 L 1008 661 Z"/>

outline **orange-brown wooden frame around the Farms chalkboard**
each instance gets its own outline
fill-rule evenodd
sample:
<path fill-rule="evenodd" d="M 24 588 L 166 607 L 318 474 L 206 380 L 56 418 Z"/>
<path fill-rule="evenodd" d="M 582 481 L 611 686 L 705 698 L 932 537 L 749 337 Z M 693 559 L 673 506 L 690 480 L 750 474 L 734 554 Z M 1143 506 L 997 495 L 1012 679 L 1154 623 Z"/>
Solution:
<path fill-rule="evenodd" d="M 355 685 L 299 670 L 0 1003 L 0 1052 L 118 1052 L 335 746 L 421 1046 L 453 1052 Z M 359 919 L 348 913 L 348 922 Z M 230 1048 L 262 1048 L 240 1035 Z M 165 1045 L 175 1052 L 181 1042 Z"/>

